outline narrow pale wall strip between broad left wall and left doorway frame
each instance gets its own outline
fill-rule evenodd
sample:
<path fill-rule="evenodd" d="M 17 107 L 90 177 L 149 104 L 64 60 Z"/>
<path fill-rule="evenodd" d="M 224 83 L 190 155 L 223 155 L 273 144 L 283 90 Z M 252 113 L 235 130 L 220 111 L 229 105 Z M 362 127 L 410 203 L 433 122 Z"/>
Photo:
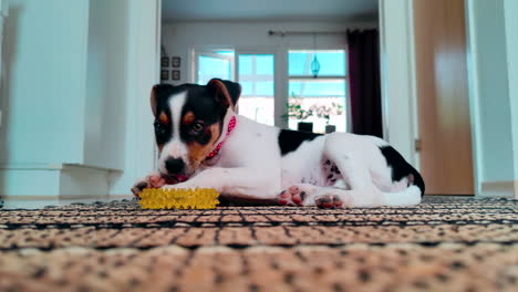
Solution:
<path fill-rule="evenodd" d="M 84 164 L 124 168 L 130 1 L 91 0 Z"/>

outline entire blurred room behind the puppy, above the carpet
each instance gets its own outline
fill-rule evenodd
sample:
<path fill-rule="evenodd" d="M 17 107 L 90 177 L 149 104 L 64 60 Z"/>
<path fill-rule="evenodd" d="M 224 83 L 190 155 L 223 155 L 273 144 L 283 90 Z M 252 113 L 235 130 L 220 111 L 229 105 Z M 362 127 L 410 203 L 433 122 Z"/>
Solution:
<path fill-rule="evenodd" d="M 220 77 L 260 123 L 383 137 L 428 194 L 518 197 L 517 3 L 0 0 L 0 196 L 130 198 L 152 85 Z"/>

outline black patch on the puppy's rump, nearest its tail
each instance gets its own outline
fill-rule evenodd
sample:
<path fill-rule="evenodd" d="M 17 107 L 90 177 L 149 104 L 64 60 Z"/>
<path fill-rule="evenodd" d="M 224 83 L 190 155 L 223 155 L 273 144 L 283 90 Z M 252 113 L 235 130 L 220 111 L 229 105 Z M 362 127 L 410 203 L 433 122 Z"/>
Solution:
<path fill-rule="evenodd" d="M 412 165 L 410 165 L 403 156 L 392 146 L 380 147 L 383 156 L 385 156 L 386 164 L 392 168 L 392 180 L 400 181 L 404 177 L 412 175 L 414 177 L 414 185 L 421 189 L 421 196 L 424 195 L 425 184 L 423 177 Z"/>

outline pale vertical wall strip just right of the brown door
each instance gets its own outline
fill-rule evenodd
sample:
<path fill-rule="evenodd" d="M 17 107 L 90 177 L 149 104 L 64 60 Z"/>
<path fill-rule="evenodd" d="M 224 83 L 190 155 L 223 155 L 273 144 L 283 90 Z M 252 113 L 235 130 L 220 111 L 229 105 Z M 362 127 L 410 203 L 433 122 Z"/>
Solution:
<path fill-rule="evenodd" d="M 468 73 L 477 194 L 514 180 L 512 124 L 503 1 L 469 0 Z"/>

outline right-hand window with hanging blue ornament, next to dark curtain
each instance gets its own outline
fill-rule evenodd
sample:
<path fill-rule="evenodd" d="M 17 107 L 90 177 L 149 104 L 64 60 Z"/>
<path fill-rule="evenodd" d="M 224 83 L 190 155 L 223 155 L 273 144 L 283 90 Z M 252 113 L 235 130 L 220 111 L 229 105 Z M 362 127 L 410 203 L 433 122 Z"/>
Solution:
<path fill-rule="evenodd" d="M 311 62 L 320 62 L 318 79 L 311 74 Z M 288 52 L 288 126 L 297 129 L 300 122 L 312 123 L 313 132 L 325 133 L 327 125 L 346 131 L 346 64 L 343 50 Z"/>

